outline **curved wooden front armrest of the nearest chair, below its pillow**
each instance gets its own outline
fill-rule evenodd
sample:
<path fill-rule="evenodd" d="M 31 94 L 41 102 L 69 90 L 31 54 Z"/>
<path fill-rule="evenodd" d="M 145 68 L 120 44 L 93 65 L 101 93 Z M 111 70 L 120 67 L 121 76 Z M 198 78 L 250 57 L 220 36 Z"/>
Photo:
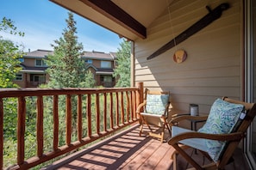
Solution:
<path fill-rule="evenodd" d="M 167 143 L 172 145 L 172 144 L 178 143 L 181 140 L 190 139 L 190 138 L 203 138 L 203 139 L 211 139 L 215 141 L 240 141 L 240 139 L 243 137 L 245 137 L 245 134 L 242 132 L 234 132 L 229 134 L 208 134 L 208 133 L 192 131 L 192 132 L 180 133 L 175 137 L 171 137 L 167 140 Z"/>

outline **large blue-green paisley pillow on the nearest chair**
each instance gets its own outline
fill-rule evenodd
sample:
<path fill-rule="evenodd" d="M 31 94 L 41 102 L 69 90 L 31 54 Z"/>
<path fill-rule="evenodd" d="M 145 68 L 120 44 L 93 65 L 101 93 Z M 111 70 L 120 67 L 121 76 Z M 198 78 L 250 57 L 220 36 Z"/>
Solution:
<path fill-rule="evenodd" d="M 227 101 L 217 99 L 211 106 L 209 117 L 199 132 L 209 134 L 230 133 L 240 118 L 240 113 L 244 110 L 244 106 L 240 104 L 229 103 Z M 218 161 L 222 154 L 225 142 L 206 140 L 208 154 L 213 161 Z"/>

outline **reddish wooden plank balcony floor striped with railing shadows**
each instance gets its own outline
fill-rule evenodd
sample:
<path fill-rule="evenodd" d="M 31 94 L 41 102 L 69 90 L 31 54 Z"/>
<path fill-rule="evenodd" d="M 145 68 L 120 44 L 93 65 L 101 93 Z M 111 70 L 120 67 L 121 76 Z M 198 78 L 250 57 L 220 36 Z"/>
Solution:
<path fill-rule="evenodd" d="M 56 161 L 44 169 L 173 169 L 171 155 L 174 149 L 168 143 L 160 143 L 159 140 L 146 135 L 139 137 L 138 134 L 139 126 L 135 125 L 88 149 Z M 209 162 L 198 152 L 196 154 L 191 149 L 187 152 L 190 152 L 191 156 L 196 156 L 201 164 L 203 161 Z M 178 169 L 186 169 L 186 167 L 190 165 L 178 156 Z M 240 149 L 234 153 L 234 162 L 228 164 L 225 169 L 249 169 Z"/>

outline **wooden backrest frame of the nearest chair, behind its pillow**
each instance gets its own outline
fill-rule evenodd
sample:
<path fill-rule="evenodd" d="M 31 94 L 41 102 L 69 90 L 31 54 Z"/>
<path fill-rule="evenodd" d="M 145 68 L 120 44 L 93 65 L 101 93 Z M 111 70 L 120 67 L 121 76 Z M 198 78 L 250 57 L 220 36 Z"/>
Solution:
<path fill-rule="evenodd" d="M 253 118 L 256 115 L 256 104 L 246 103 L 239 100 L 232 100 L 226 97 L 224 97 L 223 100 L 226 100 L 230 103 L 241 104 L 245 106 L 245 110 L 247 112 L 244 115 L 244 118 L 242 118 L 240 125 L 236 128 L 236 132 L 241 132 L 242 134 L 246 135 L 247 129 L 253 122 Z M 234 149 L 236 149 L 239 143 L 240 141 L 232 141 L 227 143 L 226 148 L 220 157 L 219 167 L 224 167 L 228 163 L 229 158 L 232 156 L 232 154 L 234 153 Z"/>

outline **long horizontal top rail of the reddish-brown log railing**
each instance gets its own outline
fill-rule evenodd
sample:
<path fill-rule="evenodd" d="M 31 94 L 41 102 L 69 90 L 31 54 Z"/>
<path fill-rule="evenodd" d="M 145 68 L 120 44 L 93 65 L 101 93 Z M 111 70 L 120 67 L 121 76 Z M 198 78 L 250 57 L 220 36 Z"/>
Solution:
<path fill-rule="evenodd" d="M 55 94 L 101 94 L 136 90 L 139 88 L 0 88 L 0 98 Z"/>

